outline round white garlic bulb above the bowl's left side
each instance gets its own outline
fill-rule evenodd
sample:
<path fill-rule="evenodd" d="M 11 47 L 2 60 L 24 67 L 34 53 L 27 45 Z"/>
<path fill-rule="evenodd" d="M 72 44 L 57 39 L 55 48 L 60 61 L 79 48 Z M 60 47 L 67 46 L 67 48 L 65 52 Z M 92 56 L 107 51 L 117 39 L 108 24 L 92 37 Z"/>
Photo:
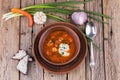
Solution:
<path fill-rule="evenodd" d="M 36 12 L 34 14 L 34 22 L 36 24 L 44 24 L 47 20 L 47 16 L 43 12 Z"/>

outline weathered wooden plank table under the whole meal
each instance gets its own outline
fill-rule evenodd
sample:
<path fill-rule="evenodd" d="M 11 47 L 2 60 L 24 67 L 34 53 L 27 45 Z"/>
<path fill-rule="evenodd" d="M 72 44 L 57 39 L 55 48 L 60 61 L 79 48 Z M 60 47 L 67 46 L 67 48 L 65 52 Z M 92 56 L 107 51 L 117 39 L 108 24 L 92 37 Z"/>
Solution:
<path fill-rule="evenodd" d="M 25 17 L 4 21 L 2 15 L 13 7 L 23 8 L 54 1 L 65 0 L 0 0 L 0 80 L 120 80 L 120 0 L 94 0 L 85 5 L 77 5 L 79 9 L 102 12 L 113 18 L 112 20 L 103 18 L 109 25 L 94 21 L 98 26 L 95 43 L 102 49 L 102 51 L 94 49 L 96 62 L 94 71 L 89 68 L 89 55 L 77 69 L 67 74 L 50 73 L 36 62 L 28 65 L 27 75 L 16 70 L 18 61 L 12 60 L 12 56 L 19 49 L 24 49 L 32 55 L 33 39 L 43 25 L 35 24 L 33 28 L 28 28 L 28 20 Z M 53 21 L 49 20 L 47 24 L 51 22 Z"/>

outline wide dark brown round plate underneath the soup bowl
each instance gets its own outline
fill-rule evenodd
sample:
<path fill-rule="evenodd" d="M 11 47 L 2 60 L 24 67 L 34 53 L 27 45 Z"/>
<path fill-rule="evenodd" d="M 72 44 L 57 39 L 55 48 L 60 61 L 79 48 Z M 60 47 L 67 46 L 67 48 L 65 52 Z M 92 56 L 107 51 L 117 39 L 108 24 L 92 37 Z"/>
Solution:
<path fill-rule="evenodd" d="M 72 24 L 69 24 L 69 23 L 64 23 L 64 22 L 58 22 L 58 23 L 54 23 L 54 24 L 58 24 L 61 26 L 68 26 L 77 33 L 77 35 L 80 39 L 80 44 L 81 44 L 80 46 L 81 47 L 80 47 L 79 54 L 76 56 L 76 58 L 73 61 L 71 61 L 70 63 L 65 64 L 65 65 L 53 65 L 53 64 L 48 63 L 46 60 L 44 60 L 42 58 L 42 56 L 39 53 L 39 48 L 38 48 L 39 40 L 40 40 L 43 32 L 45 32 L 46 28 L 48 28 L 48 27 L 43 28 L 36 35 L 34 42 L 33 42 L 33 46 L 32 46 L 32 52 L 33 52 L 35 60 L 44 69 L 47 69 L 47 70 L 54 72 L 54 73 L 67 73 L 67 72 L 75 69 L 78 65 L 81 64 L 81 62 L 83 62 L 85 60 L 85 57 L 86 57 L 87 51 L 88 51 L 87 41 L 86 41 L 86 38 L 85 38 L 83 32 L 78 27 L 76 27 Z M 50 25 L 54 25 L 54 24 L 50 24 Z"/>

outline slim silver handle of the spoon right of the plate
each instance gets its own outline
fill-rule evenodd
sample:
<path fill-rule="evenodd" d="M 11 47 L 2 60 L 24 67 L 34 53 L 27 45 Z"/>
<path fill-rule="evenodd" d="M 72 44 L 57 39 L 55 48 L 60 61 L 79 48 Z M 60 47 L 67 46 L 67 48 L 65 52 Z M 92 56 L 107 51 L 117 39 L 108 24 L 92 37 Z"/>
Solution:
<path fill-rule="evenodd" d="M 90 42 L 90 68 L 93 70 L 95 67 L 94 54 L 93 54 L 93 42 Z"/>

